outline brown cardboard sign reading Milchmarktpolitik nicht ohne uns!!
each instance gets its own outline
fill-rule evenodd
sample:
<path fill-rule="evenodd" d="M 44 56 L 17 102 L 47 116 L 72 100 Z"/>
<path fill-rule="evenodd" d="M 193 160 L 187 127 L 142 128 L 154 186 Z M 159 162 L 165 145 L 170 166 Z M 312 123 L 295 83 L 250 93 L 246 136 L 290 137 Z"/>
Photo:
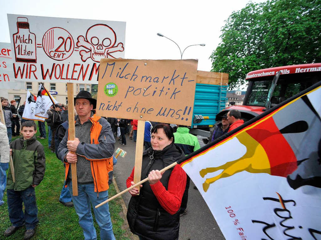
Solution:
<path fill-rule="evenodd" d="M 190 125 L 197 60 L 102 59 L 100 116 Z"/>

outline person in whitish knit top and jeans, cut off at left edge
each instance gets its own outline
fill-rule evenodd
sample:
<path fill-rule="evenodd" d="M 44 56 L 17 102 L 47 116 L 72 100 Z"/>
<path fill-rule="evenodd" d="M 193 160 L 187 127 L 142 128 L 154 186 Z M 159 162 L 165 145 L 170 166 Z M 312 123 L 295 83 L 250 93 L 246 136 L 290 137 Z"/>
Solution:
<path fill-rule="evenodd" d="M 3 193 L 7 184 L 7 176 L 5 171 L 9 168 L 10 160 L 9 139 L 7 136 L 7 128 L 0 122 L 0 206 L 4 204 Z"/>

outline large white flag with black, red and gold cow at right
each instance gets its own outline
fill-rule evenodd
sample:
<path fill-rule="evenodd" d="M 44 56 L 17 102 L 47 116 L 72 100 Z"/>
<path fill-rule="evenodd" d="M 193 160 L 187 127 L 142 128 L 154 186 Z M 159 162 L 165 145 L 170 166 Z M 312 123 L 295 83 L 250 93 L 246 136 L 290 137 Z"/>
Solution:
<path fill-rule="evenodd" d="M 227 240 L 320 239 L 320 85 L 179 162 Z"/>

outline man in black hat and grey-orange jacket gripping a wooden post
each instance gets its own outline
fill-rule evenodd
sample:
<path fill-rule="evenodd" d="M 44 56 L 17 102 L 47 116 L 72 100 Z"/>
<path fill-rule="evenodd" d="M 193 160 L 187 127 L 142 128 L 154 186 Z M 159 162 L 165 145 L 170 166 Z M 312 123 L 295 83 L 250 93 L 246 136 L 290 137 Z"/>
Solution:
<path fill-rule="evenodd" d="M 78 114 L 75 120 L 75 140 L 68 141 L 69 130 L 58 147 L 58 157 L 66 164 L 65 180 L 72 195 L 70 163 L 76 163 L 78 196 L 72 196 L 85 239 L 96 239 L 91 205 L 100 228 L 100 238 L 114 240 L 108 203 L 94 206 L 108 199 L 108 172 L 113 170 L 115 138 L 110 124 L 91 112 L 96 100 L 87 91 L 74 98 Z M 76 154 L 74 154 L 74 153 Z"/>

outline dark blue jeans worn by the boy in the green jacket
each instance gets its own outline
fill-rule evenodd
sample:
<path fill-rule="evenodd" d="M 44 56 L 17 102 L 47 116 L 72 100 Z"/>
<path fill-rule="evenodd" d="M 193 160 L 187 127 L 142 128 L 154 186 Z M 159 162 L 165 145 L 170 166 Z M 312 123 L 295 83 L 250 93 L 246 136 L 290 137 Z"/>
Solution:
<path fill-rule="evenodd" d="M 39 220 L 37 218 L 38 208 L 36 203 L 35 189 L 30 186 L 23 191 L 7 189 L 7 202 L 9 219 L 13 226 L 26 225 L 26 229 L 36 228 Z M 22 211 L 24 204 L 24 213 Z"/>

